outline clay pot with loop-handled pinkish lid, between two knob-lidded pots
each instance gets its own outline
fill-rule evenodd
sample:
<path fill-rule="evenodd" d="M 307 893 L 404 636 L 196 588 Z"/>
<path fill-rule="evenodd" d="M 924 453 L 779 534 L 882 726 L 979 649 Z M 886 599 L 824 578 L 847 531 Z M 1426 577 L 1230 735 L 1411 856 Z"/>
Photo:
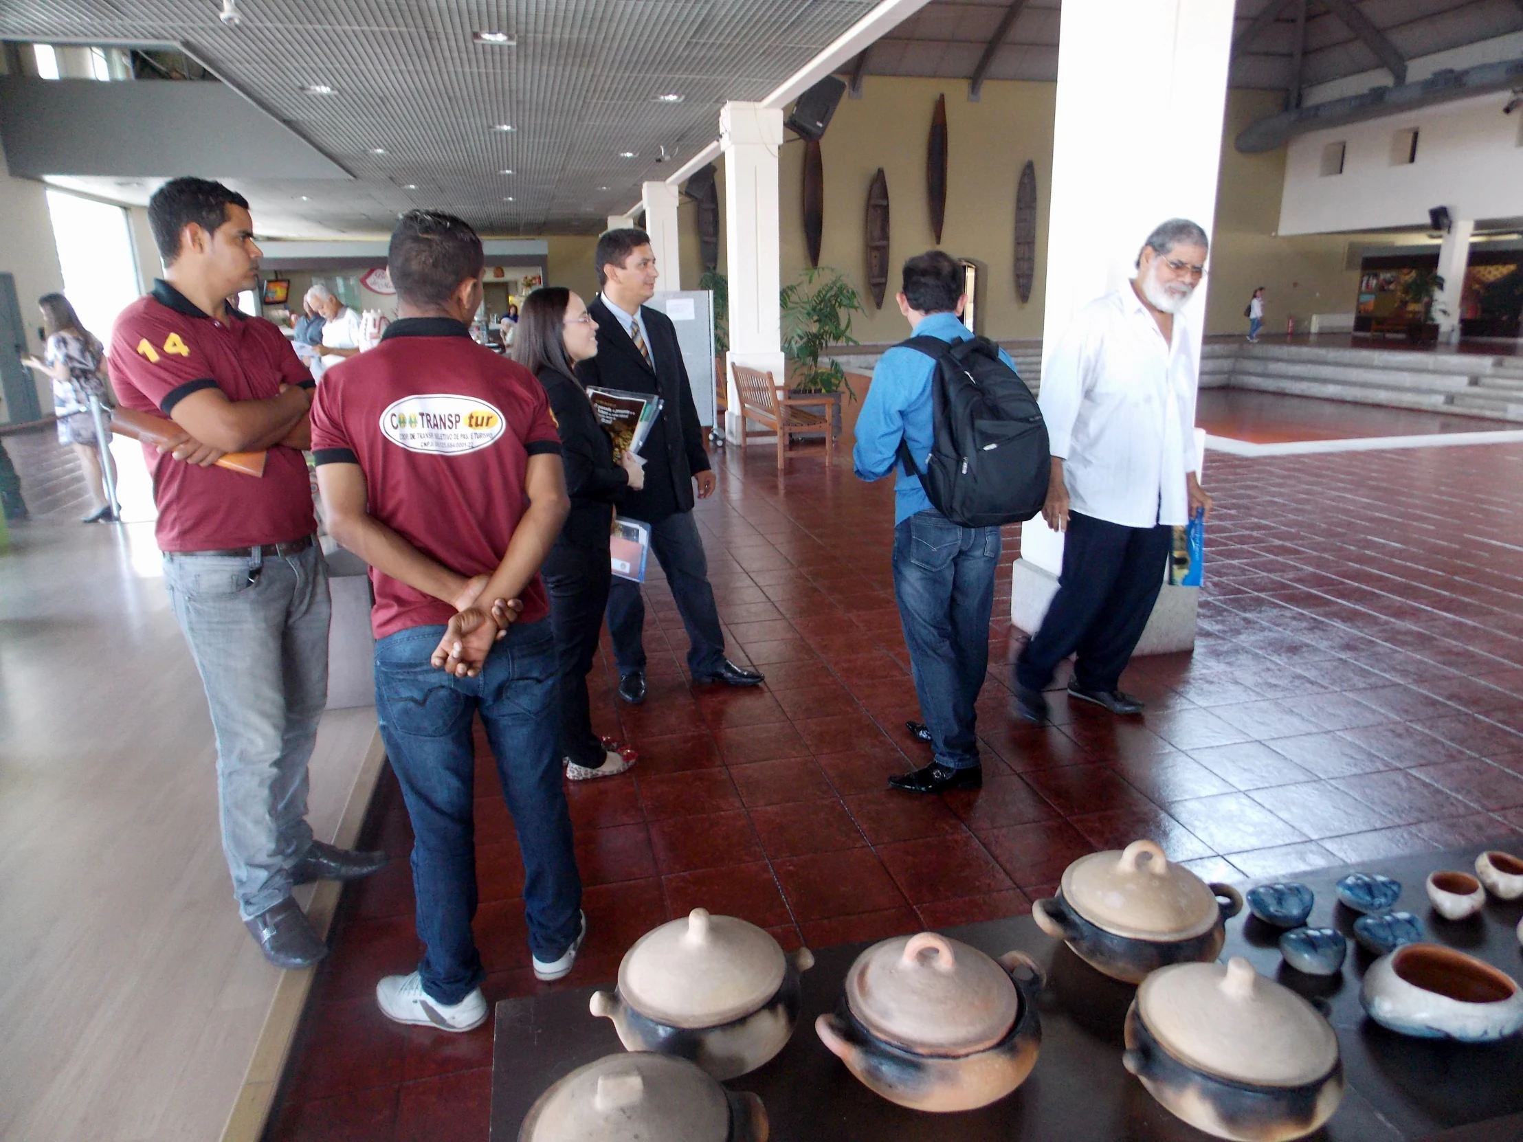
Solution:
<path fill-rule="evenodd" d="M 815 1031 L 865 1087 L 911 1110 L 973 1110 L 1025 1083 L 1042 1046 L 1027 955 L 998 961 L 935 932 L 867 949 Z"/>

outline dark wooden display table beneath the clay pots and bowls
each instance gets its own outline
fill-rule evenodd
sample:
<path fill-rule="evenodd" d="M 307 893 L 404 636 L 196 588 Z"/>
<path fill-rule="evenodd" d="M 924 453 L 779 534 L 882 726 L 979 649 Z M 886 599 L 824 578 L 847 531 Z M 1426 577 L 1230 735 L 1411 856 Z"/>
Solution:
<path fill-rule="evenodd" d="M 1403 908 L 1433 943 L 1462 949 L 1523 976 L 1514 929 L 1523 901 L 1488 901 L 1470 920 L 1450 923 L 1427 903 L 1424 880 L 1441 868 L 1470 869 L 1485 848 L 1523 850 L 1518 837 L 1448 853 L 1424 853 L 1327 868 L 1296 877 L 1317 894 L 1310 923 L 1349 935 L 1343 973 L 1327 979 L 1282 965 L 1278 930 L 1243 915 L 1228 921 L 1229 955 L 1247 956 L 1272 979 L 1325 1006 L 1337 1029 L 1348 1093 L 1319 1142 L 1518 1142 L 1523 1139 L 1523 1037 L 1467 1046 L 1392 1034 L 1365 1017 L 1359 981 L 1374 958 L 1352 946 L 1355 914 L 1337 904 L 1333 885 L 1352 871 L 1384 872 L 1403 885 Z M 1250 882 L 1266 883 L 1266 882 Z M 1246 886 L 1246 885 L 1244 885 Z M 946 929 L 990 955 L 1020 949 L 1048 971 L 1042 994 L 1042 1055 L 1010 1098 L 982 1110 L 924 1115 L 883 1101 L 857 1083 L 815 1035 L 815 1016 L 830 1011 L 847 968 L 867 944 L 815 949 L 804 973 L 798 1029 L 760 1070 L 730 1083 L 766 1104 L 772 1142 L 1202 1142 L 1164 1110 L 1121 1066 L 1121 1026 L 1135 988 L 1101 976 L 1066 946 L 1037 930 L 1031 917 Z M 594 988 L 496 1005 L 492 1063 L 492 1142 L 516 1142 L 533 1101 L 551 1083 L 594 1058 L 620 1051 L 606 1019 L 588 1013 Z"/>

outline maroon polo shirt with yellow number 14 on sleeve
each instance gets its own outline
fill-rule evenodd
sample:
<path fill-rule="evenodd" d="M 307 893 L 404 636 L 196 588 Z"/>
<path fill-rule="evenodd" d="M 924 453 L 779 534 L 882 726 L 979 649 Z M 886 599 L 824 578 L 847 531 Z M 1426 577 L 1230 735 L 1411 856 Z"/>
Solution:
<path fill-rule="evenodd" d="M 168 282 L 116 318 L 111 387 L 126 408 L 169 416 L 190 393 L 221 388 L 228 400 L 265 400 L 280 385 L 312 387 L 312 375 L 273 323 L 236 309 L 201 312 Z M 312 481 L 300 449 L 276 445 L 262 477 L 196 467 L 143 445 L 158 507 L 160 551 L 219 551 L 288 544 L 317 530 Z"/>

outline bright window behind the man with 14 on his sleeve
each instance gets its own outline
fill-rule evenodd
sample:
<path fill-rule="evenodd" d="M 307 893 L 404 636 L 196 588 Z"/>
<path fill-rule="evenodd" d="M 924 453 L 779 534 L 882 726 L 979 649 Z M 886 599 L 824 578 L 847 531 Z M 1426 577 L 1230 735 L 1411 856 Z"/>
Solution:
<path fill-rule="evenodd" d="M 116 315 L 137 300 L 137 259 L 126 210 L 62 190 L 47 192 L 64 294 L 85 329 L 111 343 Z M 35 298 L 30 298 L 35 305 Z"/>

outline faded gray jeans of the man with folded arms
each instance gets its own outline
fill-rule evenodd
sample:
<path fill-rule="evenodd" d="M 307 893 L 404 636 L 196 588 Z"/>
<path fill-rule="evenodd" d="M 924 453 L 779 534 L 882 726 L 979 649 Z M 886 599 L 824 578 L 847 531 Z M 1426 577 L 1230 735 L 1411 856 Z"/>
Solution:
<path fill-rule="evenodd" d="M 164 586 L 216 731 L 222 851 L 245 920 L 291 894 L 312 844 L 306 763 L 327 702 L 327 563 L 164 556 Z"/>

